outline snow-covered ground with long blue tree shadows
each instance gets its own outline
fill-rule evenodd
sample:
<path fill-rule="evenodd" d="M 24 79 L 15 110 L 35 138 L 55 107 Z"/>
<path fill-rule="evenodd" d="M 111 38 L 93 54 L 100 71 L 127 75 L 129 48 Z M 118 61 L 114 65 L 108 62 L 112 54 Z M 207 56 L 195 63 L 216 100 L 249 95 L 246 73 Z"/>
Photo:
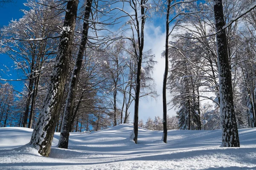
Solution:
<path fill-rule="evenodd" d="M 256 128 L 240 129 L 240 148 L 224 148 L 221 130 L 139 128 L 138 144 L 129 140 L 132 125 L 91 134 L 71 133 L 69 149 L 59 149 L 55 133 L 50 156 L 40 156 L 29 142 L 32 130 L 0 128 L 0 170 L 256 170 Z"/>

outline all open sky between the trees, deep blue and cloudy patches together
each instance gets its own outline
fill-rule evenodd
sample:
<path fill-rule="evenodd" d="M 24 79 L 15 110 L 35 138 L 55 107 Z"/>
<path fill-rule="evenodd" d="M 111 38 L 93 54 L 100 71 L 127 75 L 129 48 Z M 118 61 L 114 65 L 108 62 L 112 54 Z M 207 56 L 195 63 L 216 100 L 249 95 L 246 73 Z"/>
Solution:
<path fill-rule="evenodd" d="M 26 3 L 26 0 L 17 0 L 16 3 L 6 4 L 4 8 L 0 9 L 0 26 L 8 25 L 9 21 L 18 20 L 23 16 L 23 13 L 20 9 L 25 9 L 23 3 Z M 152 52 L 156 55 L 155 60 L 157 60 L 157 65 L 154 68 L 153 78 L 155 79 L 156 89 L 160 96 L 157 98 L 157 101 L 154 99 L 141 99 L 140 108 L 139 108 L 139 119 L 143 119 L 145 123 L 148 117 L 154 119 L 154 116 L 162 117 L 163 106 L 162 106 L 162 87 L 163 87 L 163 72 L 164 72 L 164 59 L 161 58 L 161 54 L 165 49 L 165 17 L 160 18 L 160 16 L 153 16 L 151 20 L 148 20 L 145 25 L 145 50 L 152 49 Z M 10 71 L 6 72 L 6 65 L 9 67 Z M 12 59 L 10 59 L 5 54 L 0 54 L 0 78 L 2 79 L 20 79 L 18 76 L 17 70 L 14 70 L 12 67 L 14 65 Z M 12 75 L 11 75 L 12 74 Z M 14 85 L 17 91 L 21 91 L 24 86 L 24 82 L 9 82 Z M 130 120 L 133 122 L 133 112 L 134 105 L 130 108 L 131 115 Z M 172 109 L 168 111 L 169 115 L 175 115 L 175 111 Z"/>

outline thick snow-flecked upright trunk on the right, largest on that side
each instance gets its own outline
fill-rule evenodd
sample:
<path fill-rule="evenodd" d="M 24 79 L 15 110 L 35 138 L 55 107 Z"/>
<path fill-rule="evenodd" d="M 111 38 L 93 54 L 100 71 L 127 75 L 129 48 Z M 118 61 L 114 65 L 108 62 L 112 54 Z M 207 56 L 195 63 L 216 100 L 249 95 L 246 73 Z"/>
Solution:
<path fill-rule="evenodd" d="M 231 72 L 227 51 L 227 36 L 223 29 L 225 25 L 222 0 L 214 0 L 214 15 L 216 27 L 216 42 L 218 54 L 218 72 L 220 88 L 220 112 L 222 125 L 222 146 L 240 147 L 236 116 L 233 104 Z"/>

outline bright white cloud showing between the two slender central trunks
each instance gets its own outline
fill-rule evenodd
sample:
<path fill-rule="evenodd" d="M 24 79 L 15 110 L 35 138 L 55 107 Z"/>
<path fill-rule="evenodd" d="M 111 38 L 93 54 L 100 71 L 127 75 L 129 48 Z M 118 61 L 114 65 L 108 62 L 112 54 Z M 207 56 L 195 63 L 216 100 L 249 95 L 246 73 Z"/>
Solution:
<path fill-rule="evenodd" d="M 155 54 L 155 60 L 158 62 L 153 71 L 153 78 L 156 84 L 156 90 L 159 96 L 157 100 L 154 99 L 140 99 L 139 103 L 139 119 L 143 119 L 145 123 L 148 117 L 154 119 L 154 116 L 163 117 L 163 74 L 165 67 L 165 59 L 161 57 L 161 54 L 165 50 L 165 32 L 161 31 L 163 28 L 160 26 L 154 26 L 153 23 L 148 23 L 145 27 L 145 45 L 144 51 L 149 49 Z M 167 92 L 168 93 L 168 92 Z M 168 97 L 170 100 L 170 97 Z M 133 122 L 134 118 L 134 105 L 130 107 L 130 120 Z M 174 109 L 168 111 L 170 116 L 175 115 Z"/>

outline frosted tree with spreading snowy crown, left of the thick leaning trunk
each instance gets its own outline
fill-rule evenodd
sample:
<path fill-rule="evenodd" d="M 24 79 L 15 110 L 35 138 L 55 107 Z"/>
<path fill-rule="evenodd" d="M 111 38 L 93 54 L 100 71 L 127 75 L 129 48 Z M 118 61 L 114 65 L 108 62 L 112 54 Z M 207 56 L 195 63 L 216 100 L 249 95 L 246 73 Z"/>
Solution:
<path fill-rule="evenodd" d="M 42 3 L 42 0 L 38 0 Z M 23 118 L 23 127 L 32 127 L 32 118 L 38 94 L 40 77 L 47 74 L 47 65 L 55 57 L 57 48 L 55 37 L 61 16 L 54 8 L 42 7 L 34 0 L 26 3 L 29 10 L 23 10 L 24 16 L 20 20 L 12 20 L 2 31 L 5 53 L 15 62 L 15 67 L 25 79 L 27 87 L 26 108 Z M 45 5 L 52 5 L 47 1 Z M 24 29 L 26 28 L 26 29 Z M 29 114 L 30 112 L 30 114 Z M 28 122 L 29 118 L 29 122 Z"/>

